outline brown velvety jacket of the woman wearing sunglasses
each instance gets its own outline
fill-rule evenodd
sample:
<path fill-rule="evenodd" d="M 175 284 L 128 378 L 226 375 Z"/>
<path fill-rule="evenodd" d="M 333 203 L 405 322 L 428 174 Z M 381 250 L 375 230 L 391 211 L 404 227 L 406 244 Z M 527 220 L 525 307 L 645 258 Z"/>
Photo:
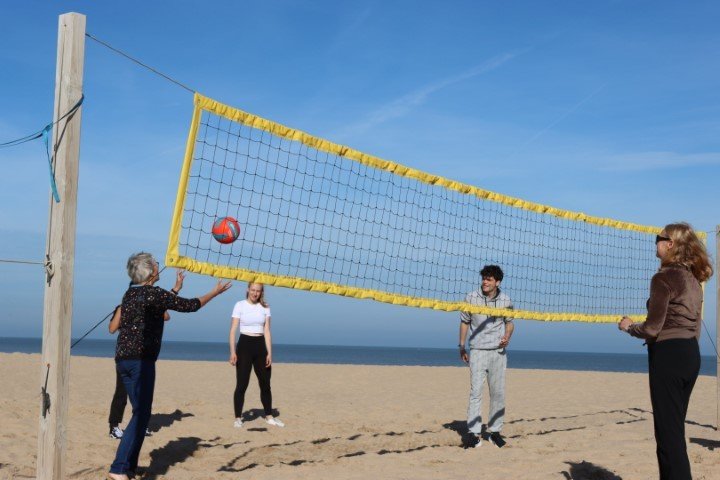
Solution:
<path fill-rule="evenodd" d="M 671 338 L 699 338 L 703 291 L 700 282 L 684 265 L 663 265 L 650 282 L 648 315 L 630 325 L 628 333 L 648 343 Z"/>

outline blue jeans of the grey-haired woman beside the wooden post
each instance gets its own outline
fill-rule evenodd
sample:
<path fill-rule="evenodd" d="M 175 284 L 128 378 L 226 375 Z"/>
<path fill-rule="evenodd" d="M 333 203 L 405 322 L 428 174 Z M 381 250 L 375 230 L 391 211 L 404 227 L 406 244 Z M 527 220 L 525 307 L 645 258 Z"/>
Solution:
<path fill-rule="evenodd" d="M 120 439 L 110 473 L 127 474 L 137 469 L 145 429 L 150 421 L 155 391 L 155 360 L 117 360 L 115 368 L 125 384 L 133 416 Z"/>

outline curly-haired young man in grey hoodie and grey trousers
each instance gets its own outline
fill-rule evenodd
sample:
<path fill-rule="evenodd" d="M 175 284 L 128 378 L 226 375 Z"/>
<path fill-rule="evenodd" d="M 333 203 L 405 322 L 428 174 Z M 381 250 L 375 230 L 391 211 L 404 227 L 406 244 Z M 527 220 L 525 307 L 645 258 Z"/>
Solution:
<path fill-rule="evenodd" d="M 470 292 L 465 301 L 471 305 L 512 309 L 510 297 L 500 291 L 503 271 L 497 265 L 486 265 L 480 271 L 482 284 Z M 490 412 L 487 435 L 493 445 L 503 447 L 500 435 L 505 416 L 505 348 L 510 343 L 514 325 L 512 318 L 498 315 L 482 315 L 462 312 L 460 314 L 460 358 L 470 366 L 470 400 L 468 403 L 467 425 L 470 434 L 482 445 L 482 390 L 485 378 L 490 391 Z M 469 332 L 469 335 L 468 335 Z M 465 347 L 468 343 L 470 353 Z"/>

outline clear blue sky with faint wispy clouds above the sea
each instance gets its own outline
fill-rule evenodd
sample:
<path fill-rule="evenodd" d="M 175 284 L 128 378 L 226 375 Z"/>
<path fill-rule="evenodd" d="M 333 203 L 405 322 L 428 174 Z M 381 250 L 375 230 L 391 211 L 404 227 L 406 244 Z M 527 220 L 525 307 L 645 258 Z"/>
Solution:
<path fill-rule="evenodd" d="M 69 11 L 207 96 L 382 158 L 591 215 L 720 223 L 717 2 L 13 2 L 0 31 L 0 141 L 50 120 L 57 17 Z M 164 257 L 192 111 L 190 93 L 89 39 L 84 87 L 75 336 L 118 303 L 130 253 Z M 0 258 L 43 256 L 43 148 L 0 150 Z M 40 267 L 0 269 L 0 336 L 40 336 Z M 211 284 L 189 275 L 185 293 Z M 175 314 L 166 339 L 225 341 L 244 289 Z M 707 289 L 714 339 L 715 277 Z M 455 313 L 267 295 L 279 343 L 457 343 Z M 614 325 L 521 321 L 513 347 L 640 353 L 640 343 Z M 705 333 L 701 346 L 711 353 Z"/>

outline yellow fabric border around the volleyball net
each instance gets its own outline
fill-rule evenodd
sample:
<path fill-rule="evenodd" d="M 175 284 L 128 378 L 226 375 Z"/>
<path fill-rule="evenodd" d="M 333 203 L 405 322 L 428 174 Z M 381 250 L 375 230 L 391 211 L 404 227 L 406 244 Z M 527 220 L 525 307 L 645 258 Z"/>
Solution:
<path fill-rule="evenodd" d="M 183 163 L 180 175 L 180 184 L 178 186 L 177 198 L 175 201 L 175 210 L 173 212 L 172 225 L 170 228 L 170 237 L 168 241 L 168 250 L 165 258 L 165 264 L 170 267 L 183 268 L 190 272 L 211 275 L 214 277 L 230 278 L 247 282 L 259 282 L 267 285 L 278 287 L 287 287 L 300 290 L 308 290 L 313 292 L 324 292 L 335 295 L 343 295 L 354 298 L 366 298 L 379 302 L 392 303 L 396 305 L 406 305 L 419 308 L 432 308 L 435 310 L 446 311 L 466 311 L 470 313 L 479 313 L 486 315 L 502 315 L 508 318 L 522 318 L 526 320 L 542 320 L 542 321 L 577 321 L 577 322 L 595 322 L 595 323 L 615 323 L 619 320 L 617 315 L 590 315 L 583 313 L 545 313 L 528 310 L 501 310 L 483 306 L 470 305 L 465 302 L 446 302 L 431 298 L 417 298 L 406 295 L 398 295 L 393 293 L 382 292 L 378 290 L 370 290 L 363 288 L 350 287 L 334 283 L 308 280 L 304 278 L 273 275 L 263 272 L 256 272 L 237 267 L 220 266 L 206 262 L 199 262 L 189 257 L 180 255 L 180 232 L 182 230 L 182 215 L 185 204 L 185 194 L 190 177 L 190 169 L 192 166 L 197 131 L 200 123 L 202 111 L 206 111 L 228 120 L 246 125 L 248 127 L 268 132 L 276 137 L 287 140 L 296 141 L 314 148 L 319 151 L 327 152 L 333 155 L 342 156 L 359 162 L 363 165 L 386 170 L 408 178 L 412 178 L 430 185 L 438 185 L 450 190 L 466 195 L 475 195 L 483 200 L 501 203 L 511 207 L 529 210 L 532 212 L 554 215 L 556 217 L 574 220 L 578 222 L 591 223 L 603 227 L 614 228 L 618 230 L 630 230 L 647 234 L 658 234 L 662 230 L 661 227 L 638 225 L 634 223 L 621 222 L 610 218 L 594 217 L 580 212 L 572 212 L 562 210 L 547 205 L 528 202 L 519 198 L 510 197 L 500 193 L 483 190 L 472 185 L 467 185 L 447 178 L 432 175 L 420 170 L 406 167 L 389 160 L 362 153 L 350 147 L 339 145 L 322 138 L 314 137 L 300 130 L 295 130 L 271 120 L 244 112 L 237 108 L 222 104 L 216 100 L 195 93 L 195 108 L 193 111 L 190 132 L 188 134 L 187 146 L 185 149 L 185 161 Z M 699 232 L 700 233 L 700 232 Z M 702 232 L 704 233 L 704 232 Z M 704 236 L 703 236 L 704 238 Z M 633 321 L 642 321 L 644 316 L 631 316 Z"/>

